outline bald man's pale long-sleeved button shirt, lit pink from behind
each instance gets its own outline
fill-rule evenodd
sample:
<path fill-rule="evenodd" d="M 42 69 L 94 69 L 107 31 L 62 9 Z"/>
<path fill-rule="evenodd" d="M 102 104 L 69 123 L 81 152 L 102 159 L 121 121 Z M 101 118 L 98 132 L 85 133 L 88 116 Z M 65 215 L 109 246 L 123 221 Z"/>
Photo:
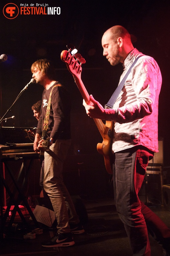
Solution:
<path fill-rule="evenodd" d="M 120 81 L 138 56 L 142 57 L 128 75 L 113 109 L 105 109 L 106 120 L 114 121 L 113 152 L 137 145 L 158 152 L 158 97 L 162 84 L 158 64 L 133 49 L 123 63 Z"/>

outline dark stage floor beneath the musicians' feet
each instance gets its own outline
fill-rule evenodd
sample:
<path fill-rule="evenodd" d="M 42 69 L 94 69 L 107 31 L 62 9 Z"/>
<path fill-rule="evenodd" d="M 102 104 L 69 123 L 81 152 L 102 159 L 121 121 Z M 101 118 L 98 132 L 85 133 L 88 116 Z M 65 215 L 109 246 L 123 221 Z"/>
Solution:
<path fill-rule="evenodd" d="M 50 239 L 52 231 L 43 228 L 43 234 L 35 239 L 23 239 L 23 230 L 12 230 L 0 243 L 0 256 L 131 256 L 131 248 L 122 222 L 119 220 L 113 198 L 87 200 L 82 199 L 88 213 L 84 224 L 85 233 L 74 235 L 75 245 L 71 247 L 44 248 L 41 242 Z M 164 206 L 152 207 L 152 210 L 170 228 L 170 211 Z M 25 216 L 30 226 L 29 215 Z M 18 219 L 18 218 L 17 218 Z M 22 226 L 19 220 L 16 223 Z M 27 232 L 27 231 L 26 231 Z M 151 255 L 161 256 L 162 249 L 149 235 Z"/>

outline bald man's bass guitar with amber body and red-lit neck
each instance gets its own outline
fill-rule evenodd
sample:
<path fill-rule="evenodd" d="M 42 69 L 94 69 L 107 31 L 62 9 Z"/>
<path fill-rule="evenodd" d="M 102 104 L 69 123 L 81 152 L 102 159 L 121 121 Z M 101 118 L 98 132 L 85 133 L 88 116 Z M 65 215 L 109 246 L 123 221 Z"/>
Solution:
<path fill-rule="evenodd" d="M 62 51 L 61 60 L 66 63 L 69 72 L 74 77 L 81 95 L 83 96 L 85 102 L 90 105 L 90 96 L 81 80 L 81 64 L 85 63 L 85 60 L 81 57 L 80 54 L 75 54 L 74 57 L 74 55 L 71 55 L 69 51 Z M 103 138 L 103 142 L 97 144 L 97 151 L 104 156 L 106 170 L 108 173 L 112 174 L 112 139 L 114 123 L 112 121 L 106 121 L 106 124 L 104 124 L 101 119 L 97 118 L 94 118 L 94 121 Z"/>

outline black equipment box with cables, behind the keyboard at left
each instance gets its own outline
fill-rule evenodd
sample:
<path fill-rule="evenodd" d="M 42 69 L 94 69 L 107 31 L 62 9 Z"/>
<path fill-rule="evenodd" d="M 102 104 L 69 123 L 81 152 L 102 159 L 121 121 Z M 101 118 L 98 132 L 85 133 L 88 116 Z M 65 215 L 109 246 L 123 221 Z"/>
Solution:
<path fill-rule="evenodd" d="M 34 132 L 34 128 L 30 127 L 0 127 L 0 144 L 5 143 L 31 143 L 32 135 L 28 131 Z"/>

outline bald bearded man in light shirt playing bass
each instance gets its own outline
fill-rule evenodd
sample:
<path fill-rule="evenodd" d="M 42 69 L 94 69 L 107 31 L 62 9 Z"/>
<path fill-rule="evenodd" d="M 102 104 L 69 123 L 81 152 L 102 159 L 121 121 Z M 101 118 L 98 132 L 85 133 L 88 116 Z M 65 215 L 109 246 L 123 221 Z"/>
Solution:
<path fill-rule="evenodd" d="M 129 32 L 122 26 L 109 28 L 102 37 L 103 55 L 112 66 L 122 63 L 124 71 L 140 56 L 127 76 L 112 108 L 104 109 L 92 95 L 89 105 L 83 101 L 90 117 L 114 122 L 113 183 L 118 215 L 124 223 L 134 256 L 150 256 L 148 230 L 170 252 L 170 230 L 139 200 L 148 161 L 158 152 L 158 97 L 162 84 L 156 61 L 135 49 Z"/>

